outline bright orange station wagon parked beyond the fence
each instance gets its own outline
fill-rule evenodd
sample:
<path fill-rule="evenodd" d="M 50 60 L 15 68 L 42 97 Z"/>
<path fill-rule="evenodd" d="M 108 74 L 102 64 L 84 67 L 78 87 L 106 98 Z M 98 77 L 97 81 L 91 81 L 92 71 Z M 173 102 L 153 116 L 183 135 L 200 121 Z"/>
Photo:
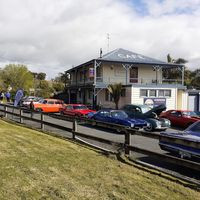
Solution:
<path fill-rule="evenodd" d="M 59 112 L 64 106 L 64 102 L 58 99 L 41 99 L 33 104 L 34 110 L 42 112 Z"/>

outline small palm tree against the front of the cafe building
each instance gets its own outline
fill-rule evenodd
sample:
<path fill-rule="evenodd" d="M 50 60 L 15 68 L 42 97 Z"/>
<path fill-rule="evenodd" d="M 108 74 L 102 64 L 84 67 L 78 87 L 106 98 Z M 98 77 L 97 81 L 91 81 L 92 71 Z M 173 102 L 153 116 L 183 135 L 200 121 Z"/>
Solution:
<path fill-rule="evenodd" d="M 110 92 L 111 96 L 114 99 L 115 108 L 118 109 L 119 107 L 118 104 L 122 93 L 122 84 L 121 83 L 110 84 L 108 86 L 108 91 Z"/>

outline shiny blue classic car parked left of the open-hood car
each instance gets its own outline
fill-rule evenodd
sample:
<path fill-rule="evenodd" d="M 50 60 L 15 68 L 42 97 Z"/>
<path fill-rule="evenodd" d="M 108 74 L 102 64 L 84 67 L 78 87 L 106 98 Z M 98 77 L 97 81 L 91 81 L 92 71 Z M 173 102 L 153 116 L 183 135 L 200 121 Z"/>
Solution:
<path fill-rule="evenodd" d="M 145 120 L 129 118 L 123 110 L 100 110 L 96 113 L 90 113 L 88 116 L 97 121 L 120 124 L 133 129 L 140 129 L 148 126 L 148 123 Z M 116 130 L 118 132 L 121 131 L 120 128 L 117 128 Z"/>

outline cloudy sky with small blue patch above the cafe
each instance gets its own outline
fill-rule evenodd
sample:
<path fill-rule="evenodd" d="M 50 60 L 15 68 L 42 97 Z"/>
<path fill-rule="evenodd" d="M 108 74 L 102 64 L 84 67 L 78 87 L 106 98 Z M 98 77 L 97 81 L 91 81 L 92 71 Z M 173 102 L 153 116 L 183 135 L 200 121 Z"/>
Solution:
<path fill-rule="evenodd" d="M 0 30 L 0 67 L 25 64 L 48 79 L 100 48 L 200 68 L 200 0 L 0 0 Z"/>

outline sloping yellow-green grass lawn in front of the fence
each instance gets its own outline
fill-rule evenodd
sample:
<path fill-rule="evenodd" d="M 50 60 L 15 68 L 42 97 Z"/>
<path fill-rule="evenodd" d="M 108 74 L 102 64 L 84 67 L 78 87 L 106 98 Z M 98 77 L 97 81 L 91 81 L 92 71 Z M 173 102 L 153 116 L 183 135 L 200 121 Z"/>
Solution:
<path fill-rule="evenodd" d="M 0 199 L 200 199 L 168 179 L 0 120 Z"/>

